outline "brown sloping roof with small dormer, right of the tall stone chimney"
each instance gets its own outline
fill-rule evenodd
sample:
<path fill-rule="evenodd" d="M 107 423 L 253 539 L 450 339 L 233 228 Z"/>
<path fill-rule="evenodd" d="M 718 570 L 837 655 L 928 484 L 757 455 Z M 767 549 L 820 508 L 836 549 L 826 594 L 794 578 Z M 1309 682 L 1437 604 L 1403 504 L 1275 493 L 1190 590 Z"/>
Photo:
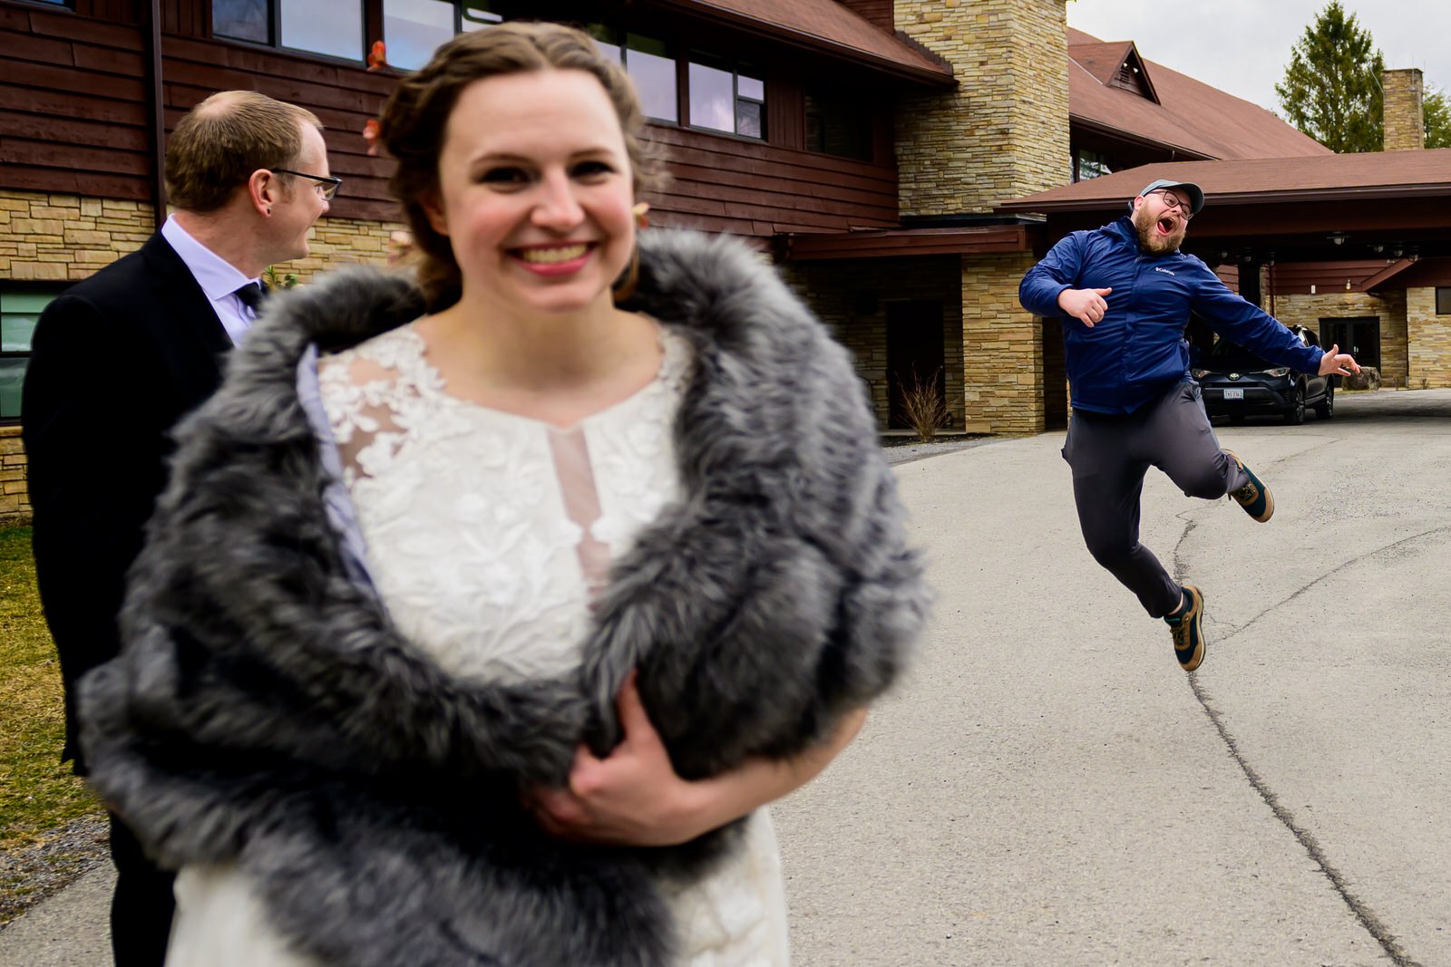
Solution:
<path fill-rule="evenodd" d="M 1246 100 L 1162 64 L 1140 64 L 1158 103 L 1109 86 L 1129 41 L 1106 43 L 1068 29 L 1068 113 L 1074 123 L 1146 141 L 1191 158 L 1293 158 L 1331 149 Z"/>

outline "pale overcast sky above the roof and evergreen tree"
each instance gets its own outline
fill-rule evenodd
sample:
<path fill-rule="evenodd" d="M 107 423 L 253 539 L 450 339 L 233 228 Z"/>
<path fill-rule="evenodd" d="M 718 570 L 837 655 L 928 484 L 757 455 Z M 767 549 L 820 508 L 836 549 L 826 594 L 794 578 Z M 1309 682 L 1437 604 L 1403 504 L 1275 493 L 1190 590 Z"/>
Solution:
<path fill-rule="evenodd" d="M 1329 0 L 1068 0 L 1068 26 L 1133 41 L 1145 59 L 1280 112 L 1274 86 L 1290 48 Z M 1387 68 L 1419 67 L 1451 90 L 1451 0 L 1341 0 Z"/>

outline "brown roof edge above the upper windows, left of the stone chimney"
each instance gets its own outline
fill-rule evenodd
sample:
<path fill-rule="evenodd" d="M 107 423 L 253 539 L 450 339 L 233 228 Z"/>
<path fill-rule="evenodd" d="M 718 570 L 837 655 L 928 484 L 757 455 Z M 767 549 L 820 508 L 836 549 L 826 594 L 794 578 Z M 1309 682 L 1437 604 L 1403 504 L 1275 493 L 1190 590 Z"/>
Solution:
<path fill-rule="evenodd" d="M 905 80 L 937 86 L 955 83 L 946 61 L 879 29 L 836 0 L 657 0 L 657 6 L 852 59 Z"/>

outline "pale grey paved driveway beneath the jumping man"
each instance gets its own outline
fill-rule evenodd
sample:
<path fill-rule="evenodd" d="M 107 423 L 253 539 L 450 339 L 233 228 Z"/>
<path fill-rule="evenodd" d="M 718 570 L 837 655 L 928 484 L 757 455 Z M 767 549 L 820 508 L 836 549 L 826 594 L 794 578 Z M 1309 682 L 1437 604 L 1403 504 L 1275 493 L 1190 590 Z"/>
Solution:
<path fill-rule="evenodd" d="M 1185 676 L 1082 548 L 1062 433 L 898 467 L 939 593 L 903 687 L 775 808 L 797 967 L 1451 964 L 1451 390 L 1217 428 L 1258 525 L 1152 471 Z M 903 458 L 910 454 L 897 454 Z M 104 967 L 107 874 L 0 932 Z"/>

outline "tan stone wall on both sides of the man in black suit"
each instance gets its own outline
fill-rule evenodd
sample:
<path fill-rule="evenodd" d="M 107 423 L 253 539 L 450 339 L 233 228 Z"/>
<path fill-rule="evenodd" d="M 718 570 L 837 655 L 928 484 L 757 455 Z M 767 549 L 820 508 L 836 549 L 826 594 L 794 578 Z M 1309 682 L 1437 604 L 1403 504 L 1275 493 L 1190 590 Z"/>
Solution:
<path fill-rule="evenodd" d="M 0 190 L 0 280 L 77 281 L 132 252 L 155 228 L 141 202 Z M 399 225 L 322 219 L 308 258 L 280 262 L 279 275 L 308 281 L 347 262 L 385 264 L 387 236 Z M 123 426 L 120 428 L 123 432 Z M 0 525 L 30 516 L 19 426 L 0 426 Z"/>

